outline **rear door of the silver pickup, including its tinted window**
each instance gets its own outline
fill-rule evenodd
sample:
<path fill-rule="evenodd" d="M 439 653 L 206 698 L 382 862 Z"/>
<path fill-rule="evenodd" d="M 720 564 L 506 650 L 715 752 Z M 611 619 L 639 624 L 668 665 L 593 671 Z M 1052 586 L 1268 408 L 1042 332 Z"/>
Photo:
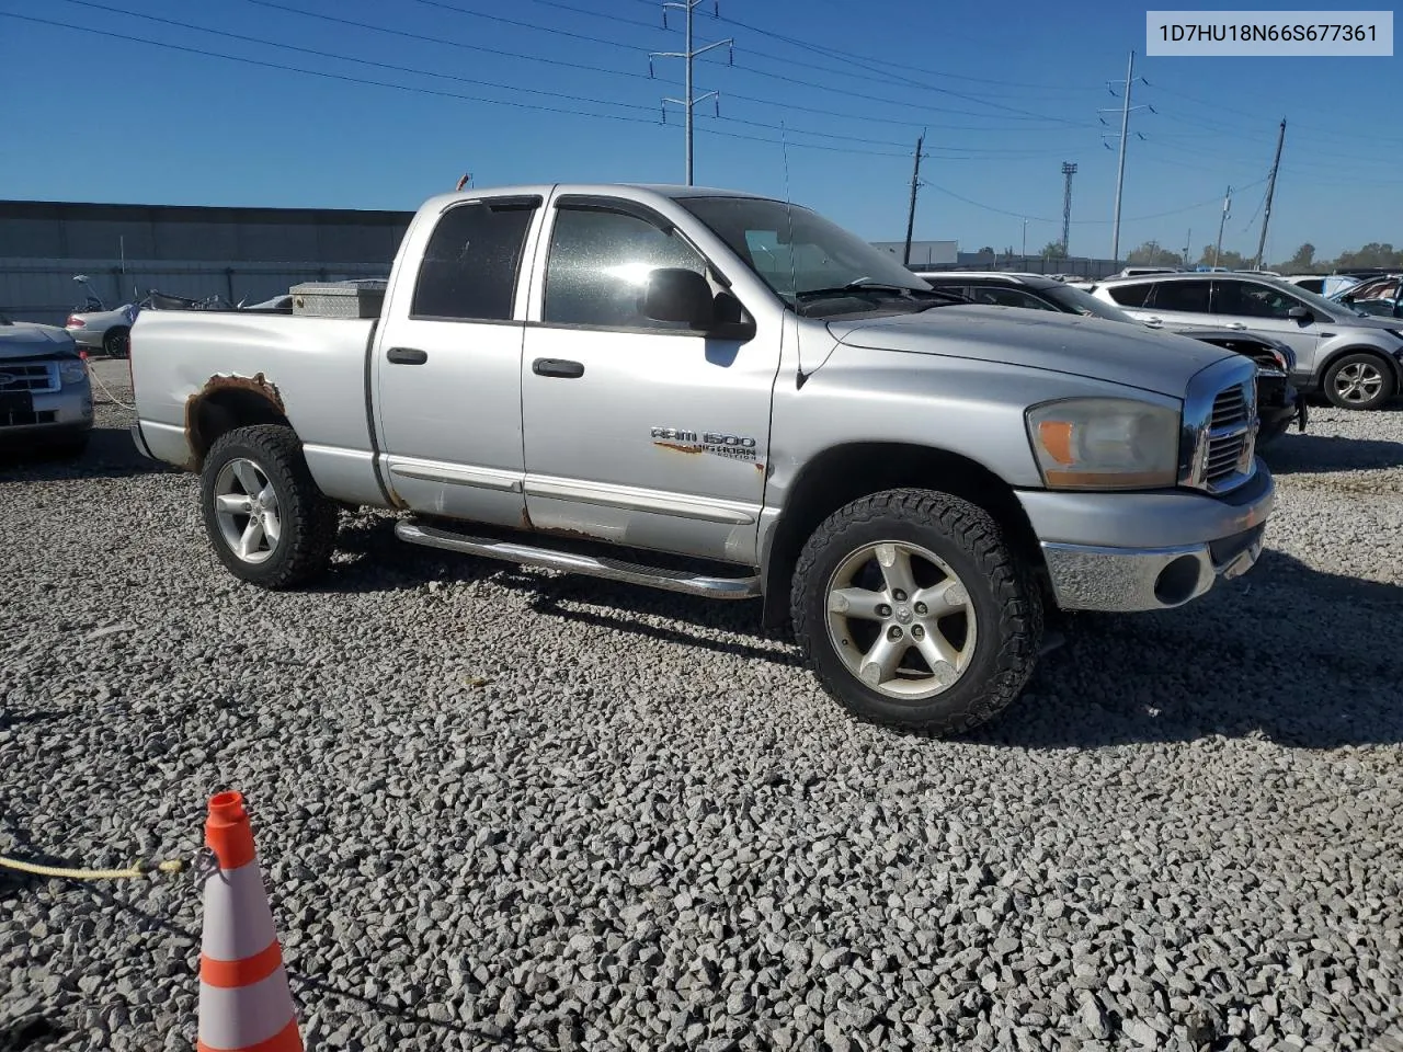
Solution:
<path fill-rule="evenodd" d="M 540 203 L 453 202 L 428 240 L 411 233 L 417 243 L 401 254 L 410 267 L 422 258 L 386 304 L 375 411 L 386 483 L 414 511 L 521 525 L 518 276 Z"/>

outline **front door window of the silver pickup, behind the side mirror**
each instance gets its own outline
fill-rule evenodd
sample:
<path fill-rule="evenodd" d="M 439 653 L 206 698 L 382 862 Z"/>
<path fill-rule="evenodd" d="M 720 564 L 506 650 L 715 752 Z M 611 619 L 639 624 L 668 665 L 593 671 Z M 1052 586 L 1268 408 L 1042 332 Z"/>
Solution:
<path fill-rule="evenodd" d="M 682 267 L 706 275 L 706 264 L 675 233 L 623 212 L 561 208 L 546 261 L 542 320 L 557 325 L 678 328 L 641 310 L 648 271 Z"/>

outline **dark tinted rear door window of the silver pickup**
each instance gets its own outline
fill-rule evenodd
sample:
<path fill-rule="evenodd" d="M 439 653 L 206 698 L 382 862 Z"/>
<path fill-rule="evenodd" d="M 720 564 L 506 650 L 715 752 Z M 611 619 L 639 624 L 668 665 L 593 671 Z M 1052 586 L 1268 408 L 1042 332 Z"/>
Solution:
<path fill-rule="evenodd" d="M 535 205 L 474 201 L 443 213 L 419 264 L 410 314 L 511 321 L 522 247 Z"/>

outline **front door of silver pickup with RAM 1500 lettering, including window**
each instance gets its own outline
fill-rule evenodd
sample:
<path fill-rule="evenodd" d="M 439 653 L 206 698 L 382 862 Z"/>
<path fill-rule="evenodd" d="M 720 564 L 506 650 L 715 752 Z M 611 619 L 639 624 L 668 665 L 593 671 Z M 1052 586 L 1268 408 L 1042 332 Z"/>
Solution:
<path fill-rule="evenodd" d="M 714 269 L 651 209 L 560 196 L 522 356 L 526 512 L 544 532 L 753 564 L 777 332 L 641 313 L 654 268 Z"/>

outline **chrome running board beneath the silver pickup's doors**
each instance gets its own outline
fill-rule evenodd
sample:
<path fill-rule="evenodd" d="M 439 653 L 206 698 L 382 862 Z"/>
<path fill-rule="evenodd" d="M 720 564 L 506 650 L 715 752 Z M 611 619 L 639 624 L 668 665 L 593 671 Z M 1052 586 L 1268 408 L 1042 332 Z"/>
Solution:
<path fill-rule="evenodd" d="M 460 551 L 467 555 L 497 558 L 523 567 L 561 569 L 567 574 L 586 574 L 589 576 L 605 578 L 606 581 L 622 581 L 629 585 L 644 585 L 666 592 L 706 596 L 707 599 L 755 599 L 760 595 L 759 576 L 703 576 L 682 569 L 644 567 L 636 562 L 599 558 L 574 551 L 561 551 L 558 548 L 540 548 L 508 540 L 473 537 L 466 533 L 455 533 L 408 519 L 401 519 L 396 523 L 394 536 L 410 544 L 422 544 L 429 548 L 445 548 L 446 551 Z"/>

